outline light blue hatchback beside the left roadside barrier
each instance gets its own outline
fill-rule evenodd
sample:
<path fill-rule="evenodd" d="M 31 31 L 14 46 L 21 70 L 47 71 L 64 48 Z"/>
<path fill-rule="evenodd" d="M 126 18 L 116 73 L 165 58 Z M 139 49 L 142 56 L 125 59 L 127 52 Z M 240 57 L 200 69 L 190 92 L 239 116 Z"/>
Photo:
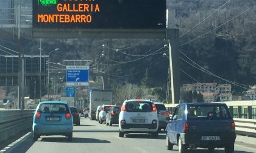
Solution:
<path fill-rule="evenodd" d="M 33 118 L 33 139 L 41 135 L 65 135 L 73 138 L 73 117 L 68 103 L 64 101 L 44 101 L 38 104 Z"/>

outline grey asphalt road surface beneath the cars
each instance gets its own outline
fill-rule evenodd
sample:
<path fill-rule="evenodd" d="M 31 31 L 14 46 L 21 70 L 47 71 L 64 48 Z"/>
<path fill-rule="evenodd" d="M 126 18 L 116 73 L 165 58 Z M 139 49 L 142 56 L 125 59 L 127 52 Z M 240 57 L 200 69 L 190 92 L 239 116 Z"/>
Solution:
<path fill-rule="evenodd" d="M 148 134 L 129 134 L 123 138 L 118 137 L 118 125 L 112 127 L 105 123 L 99 124 L 88 118 L 81 118 L 81 125 L 74 126 L 73 140 L 68 141 L 62 136 L 43 136 L 34 142 L 30 135 L 25 141 L 12 149 L 12 152 L 175 152 L 165 148 L 165 133 L 153 138 Z M 192 153 L 208 152 L 206 149 L 193 149 Z M 215 152 L 224 153 L 224 149 L 216 149 Z M 235 144 L 235 153 L 256 152 L 256 148 Z"/>

